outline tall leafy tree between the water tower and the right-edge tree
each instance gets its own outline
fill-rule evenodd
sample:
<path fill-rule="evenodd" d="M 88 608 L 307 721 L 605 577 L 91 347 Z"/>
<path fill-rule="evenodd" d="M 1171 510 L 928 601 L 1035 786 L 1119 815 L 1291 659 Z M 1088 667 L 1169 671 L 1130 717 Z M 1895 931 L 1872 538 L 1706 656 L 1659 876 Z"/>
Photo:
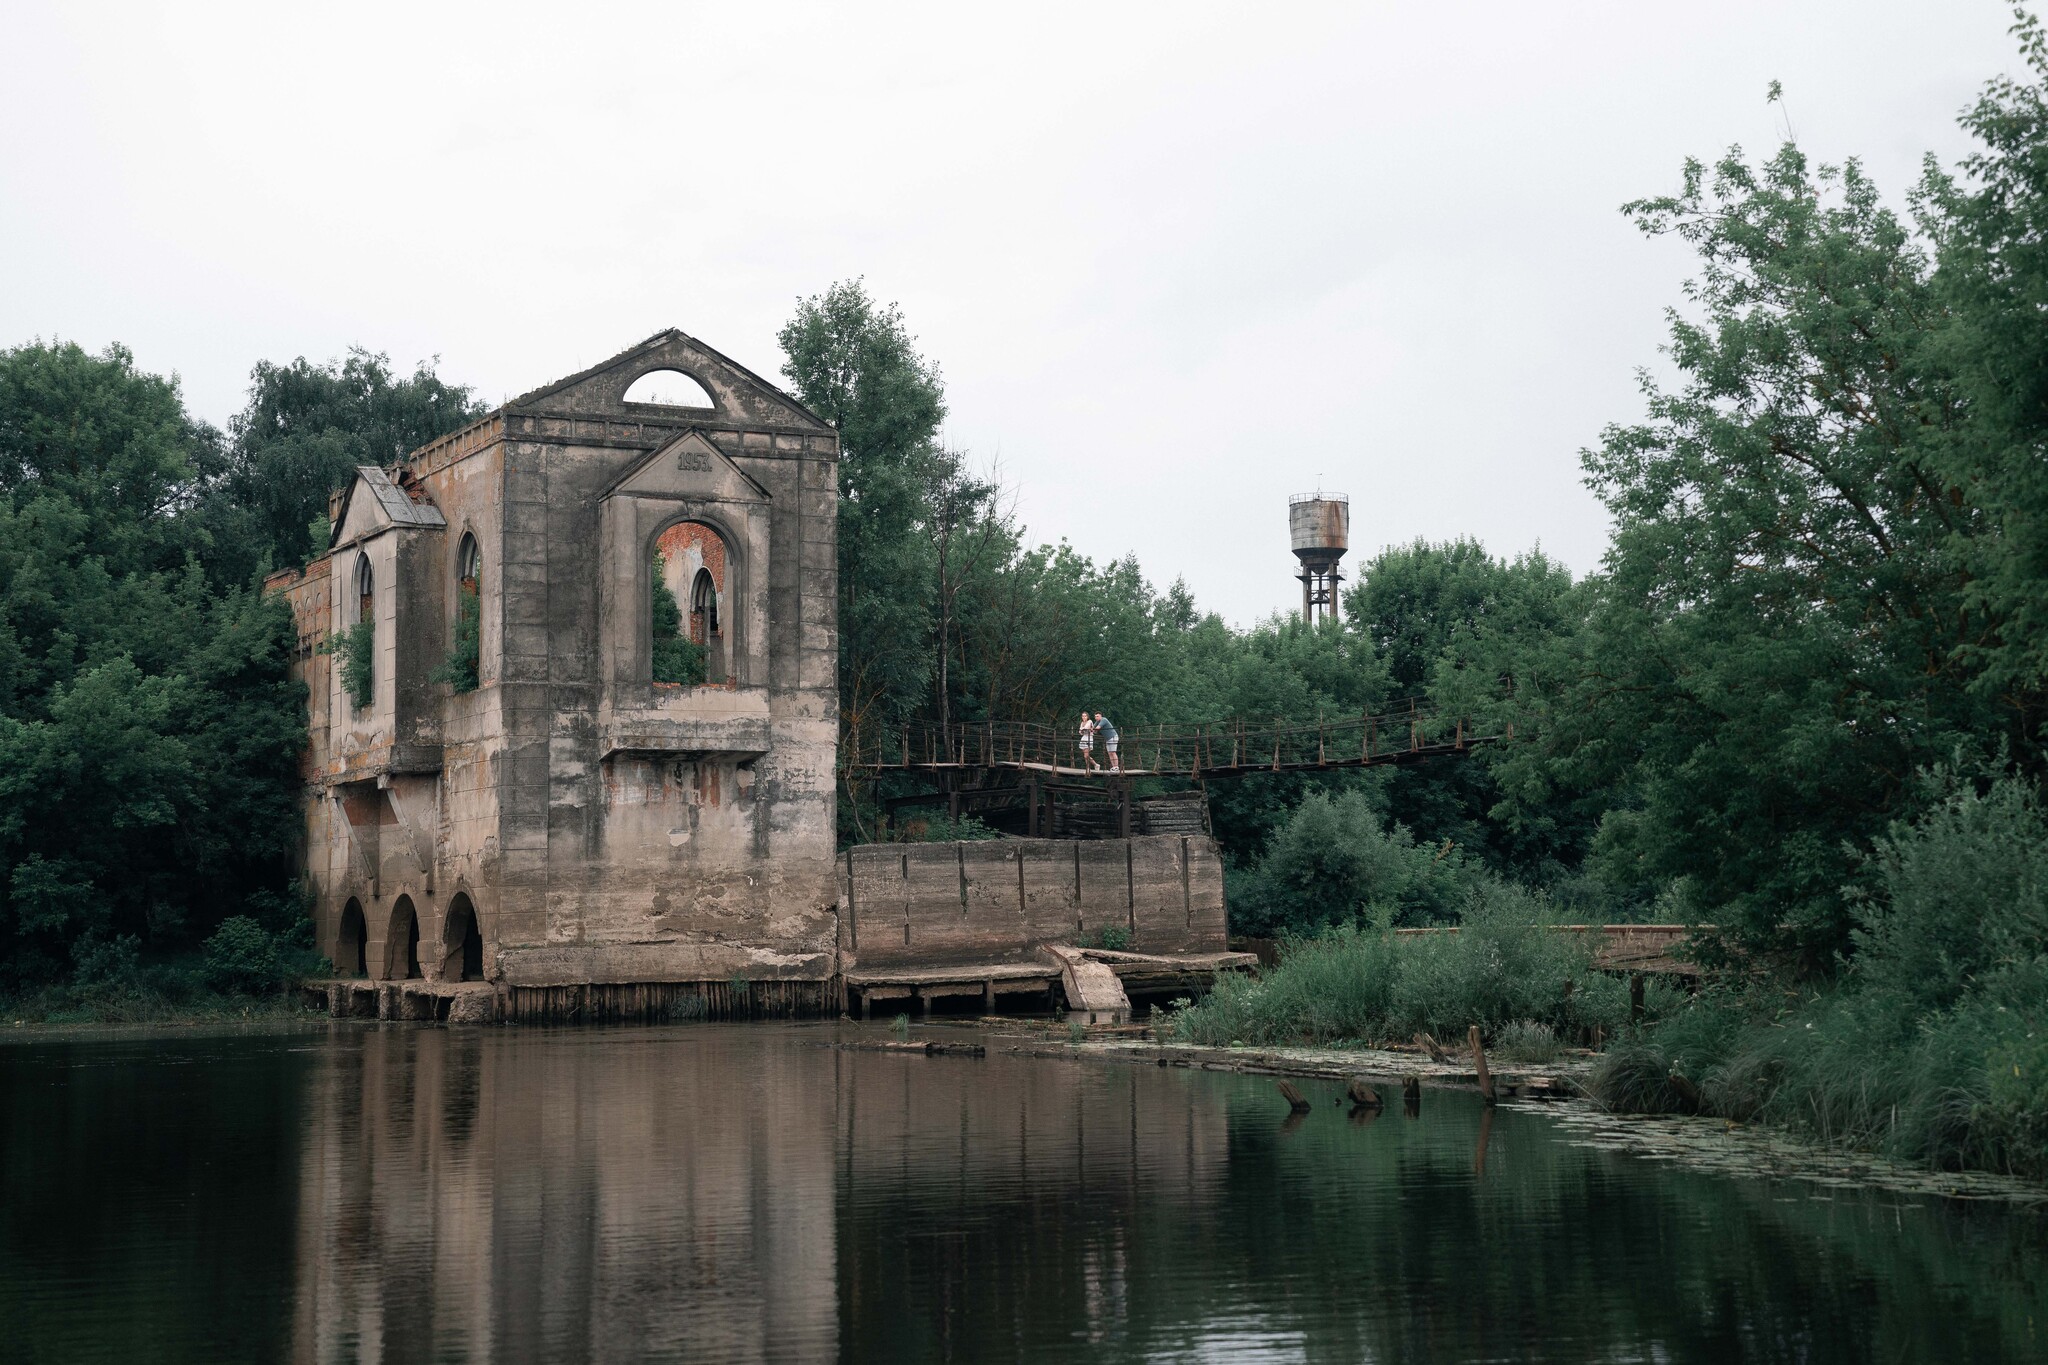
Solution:
<path fill-rule="evenodd" d="M 1614 542 L 1587 626 L 1518 708 L 1550 778 L 1608 794 L 1610 878 L 1821 966 L 1915 769 L 2001 731 L 1962 663 L 1985 622 L 1942 473 L 1966 415 L 1927 344 L 1942 305 L 1855 164 L 1794 145 L 1688 164 L 1628 213 L 1700 258 L 1696 313 L 1671 313 L 1681 383 L 1645 379 L 1649 420 L 1585 454 Z"/>

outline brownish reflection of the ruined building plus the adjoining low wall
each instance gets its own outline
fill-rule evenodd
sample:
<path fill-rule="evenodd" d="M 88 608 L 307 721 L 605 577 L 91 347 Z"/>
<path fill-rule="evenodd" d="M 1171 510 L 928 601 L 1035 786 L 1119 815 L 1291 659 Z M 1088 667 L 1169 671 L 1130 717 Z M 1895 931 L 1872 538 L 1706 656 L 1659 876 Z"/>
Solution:
<path fill-rule="evenodd" d="M 874 1355 L 981 1300 L 1022 1312 L 1047 1275 L 1051 1302 L 1118 1316 L 1141 1199 L 1221 1183 L 1223 1109 L 1182 1076 L 817 1038 L 336 1040 L 301 1148 L 293 1357 Z M 1006 1240 L 1038 1279 L 983 1273 Z M 909 1304 L 909 1279 L 944 1293 Z"/>

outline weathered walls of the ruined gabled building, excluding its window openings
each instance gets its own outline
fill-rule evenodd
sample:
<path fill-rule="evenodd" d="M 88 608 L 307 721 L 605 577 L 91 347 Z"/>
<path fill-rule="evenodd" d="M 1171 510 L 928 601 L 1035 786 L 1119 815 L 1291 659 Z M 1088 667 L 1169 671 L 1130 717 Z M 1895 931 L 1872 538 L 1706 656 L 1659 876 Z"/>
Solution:
<path fill-rule="evenodd" d="M 713 405 L 629 403 L 690 375 Z M 371 974 L 393 911 L 420 962 L 475 907 L 510 984 L 797 978 L 836 970 L 838 438 L 678 332 L 362 471 L 330 555 L 279 575 L 313 688 L 305 866 L 322 948 L 360 902 Z M 727 681 L 655 688 L 655 538 L 721 536 Z M 481 686 L 432 681 L 457 612 L 457 546 L 481 551 Z M 354 708 L 322 641 L 375 581 L 375 696 Z M 684 610 L 688 602 L 684 600 Z M 401 952 L 397 956 L 403 956 Z"/>

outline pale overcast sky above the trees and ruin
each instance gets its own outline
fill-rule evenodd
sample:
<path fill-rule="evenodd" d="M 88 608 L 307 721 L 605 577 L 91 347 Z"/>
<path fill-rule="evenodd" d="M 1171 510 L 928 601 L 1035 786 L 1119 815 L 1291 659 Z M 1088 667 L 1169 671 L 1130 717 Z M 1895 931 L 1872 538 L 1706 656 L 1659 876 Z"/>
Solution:
<path fill-rule="evenodd" d="M 0 346 L 123 342 L 225 422 L 352 344 L 498 401 L 682 327 L 778 377 L 866 276 L 1032 536 L 1247 624 L 1286 495 L 1597 567 L 1579 448 L 1688 260 L 1618 207 L 1790 131 L 1894 199 L 2019 68 L 1989 0 L 23 4 Z M 1765 104 L 1782 80 L 1786 102 Z"/>

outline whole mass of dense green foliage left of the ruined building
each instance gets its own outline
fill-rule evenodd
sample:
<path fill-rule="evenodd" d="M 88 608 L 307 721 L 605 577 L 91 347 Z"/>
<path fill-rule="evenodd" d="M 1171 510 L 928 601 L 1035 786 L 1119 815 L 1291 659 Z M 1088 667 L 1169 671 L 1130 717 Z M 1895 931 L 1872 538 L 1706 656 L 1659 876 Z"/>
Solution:
<path fill-rule="evenodd" d="M 305 690 L 256 575 L 311 548 L 356 460 L 471 413 L 358 352 L 258 366 L 223 440 L 119 346 L 0 352 L 0 993 L 166 1001 L 311 964 Z"/>

